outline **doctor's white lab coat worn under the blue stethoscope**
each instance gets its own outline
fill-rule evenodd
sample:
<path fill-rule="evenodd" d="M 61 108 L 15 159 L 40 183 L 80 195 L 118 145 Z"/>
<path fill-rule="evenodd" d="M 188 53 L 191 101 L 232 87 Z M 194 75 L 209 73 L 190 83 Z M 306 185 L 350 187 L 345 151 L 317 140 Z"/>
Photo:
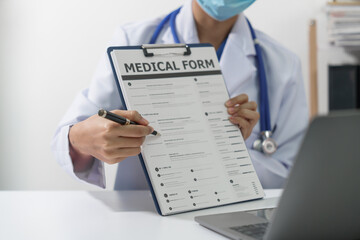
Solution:
<path fill-rule="evenodd" d="M 148 43 L 163 17 L 127 24 L 117 29 L 109 46 L 141 45 Z M 176 18 L 179 39 L 184 43 L 198 43 L 191 0 L 185 3 Z M 278 150 L 272 156 L 253 150 L 252 144 L 259 137 L 258 123 L 246 145 L 255 170 L 264 188 L 283 186 L 294 157 L 301 143 L 308 122 L 308 108 L 299 59 L 266 34 L 256 31 L 260 41 L 267 75 L 269 105 L 273 138 Z M 174 43 L 168 26 L 160 34 L 157 43 Z M 259 103 L 259 80 L 255 63 L 255 48 L 249 27 L 240 14 L 232 28 L 220 66 L 231 97 L 246 93 L 250 100 Z M 69 127 L 97 113 L 99 108 L 123 109 L 112 69 L 106 54 L 96 70 L 89 88 L 75 99 L 55 133 L 52 150 L 65 170 L 83 181 L 105 187 L 103 163 L 96 160 L 88 172 L 74 173 L 69 155 Z M 119 163 L 115 189 L 144 189 L 146 182 L 139 160 L 129 158 Z"/>

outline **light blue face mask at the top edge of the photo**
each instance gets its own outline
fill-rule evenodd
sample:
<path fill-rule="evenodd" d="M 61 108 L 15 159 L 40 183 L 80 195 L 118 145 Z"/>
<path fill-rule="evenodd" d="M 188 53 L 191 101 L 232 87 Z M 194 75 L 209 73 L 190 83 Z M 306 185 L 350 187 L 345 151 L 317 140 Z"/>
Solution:
<path fill-rule="evenodd" d="M 243 12 L 255 0 L 197 0 L 197 2 L 212 18 L 224 21 Z"/>

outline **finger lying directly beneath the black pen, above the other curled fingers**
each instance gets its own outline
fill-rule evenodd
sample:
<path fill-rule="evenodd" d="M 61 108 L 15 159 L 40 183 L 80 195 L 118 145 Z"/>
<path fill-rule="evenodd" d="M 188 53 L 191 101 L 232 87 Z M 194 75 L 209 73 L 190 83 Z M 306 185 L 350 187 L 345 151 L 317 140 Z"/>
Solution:
<path fill-rule="evenodd" d="M 120 125 L 107 121 L 104 125 L 103 137 L 111 140 L 113 137 L 144 137 L 154 131 L 154 128 L 143 125 Z"/>

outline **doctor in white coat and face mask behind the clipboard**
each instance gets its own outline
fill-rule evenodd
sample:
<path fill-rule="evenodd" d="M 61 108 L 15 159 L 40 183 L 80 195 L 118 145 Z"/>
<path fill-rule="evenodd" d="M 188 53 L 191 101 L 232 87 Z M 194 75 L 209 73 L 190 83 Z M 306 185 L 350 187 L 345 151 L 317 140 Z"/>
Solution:
<path fill-rule="evenodd" d="M 278 188 L 293 165 L 308 109 L 298 58 L 254 31 L 243 15 L 254 1 L 188 0 L 166 18 L 119 27 L 110 45 L 211 43 L 231 97 L 225 103 L 229 119 L 247 139 L 263 187 Z M 260 105 L 260 122 L 255 101 Z M 100 107 L 123 108 L 106 55 L 90 87 L 77 96 L 57 128 L 52 142 L 57 161 L 69 174 L 100 187 L 106 184 L 104 162 L 119 162 L 115 189 L 146 189 L 139 160 L 129 156 L 139 153 L 153 129 L 134 111 L 115 113 L 142 125 L 112 123 L 95 115 Z M 270 146 L 270 152 L 263 145 Z"/>

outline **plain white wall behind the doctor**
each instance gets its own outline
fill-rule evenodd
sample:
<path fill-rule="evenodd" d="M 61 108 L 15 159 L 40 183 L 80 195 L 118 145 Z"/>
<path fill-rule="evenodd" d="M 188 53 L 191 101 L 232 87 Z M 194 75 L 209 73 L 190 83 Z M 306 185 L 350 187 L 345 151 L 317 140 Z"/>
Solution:
<path fill-rule="evenodd" d="M 70 178 L 50 141 L 119 24 L 183 0 L 0 0 L 0 190 L 98 189 Z M 294 51 L 308 81 L 308 23 L 326 0 L 258 0 L 253 25 Z M 107 166 L 112 189 L 116 166 Z"/>

